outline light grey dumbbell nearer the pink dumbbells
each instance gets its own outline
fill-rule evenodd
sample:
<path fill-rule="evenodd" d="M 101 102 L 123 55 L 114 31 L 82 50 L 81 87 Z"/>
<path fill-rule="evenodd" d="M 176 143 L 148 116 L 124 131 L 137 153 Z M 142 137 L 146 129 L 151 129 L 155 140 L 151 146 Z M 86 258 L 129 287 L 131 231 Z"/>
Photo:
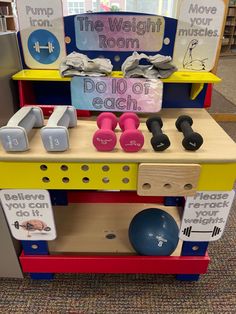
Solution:
<path fill-rule="evenodd" d="M 73 106 L 55 107 L 48 123 L 41 129 L 43 145 L 48 152 L 63 152 L 69 148 L 68 128 L 77 125 L 76 109 Z"/>

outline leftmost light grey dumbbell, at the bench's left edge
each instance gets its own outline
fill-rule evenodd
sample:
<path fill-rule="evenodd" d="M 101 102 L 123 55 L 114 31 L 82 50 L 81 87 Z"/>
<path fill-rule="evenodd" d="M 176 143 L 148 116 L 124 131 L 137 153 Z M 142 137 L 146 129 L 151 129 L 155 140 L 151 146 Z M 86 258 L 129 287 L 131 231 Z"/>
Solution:
<path fill-rule="evenodd" d="M 43 112 L 39 107 L 26 106 L 18 110 L 0 129 L 0 140 L 7 152 L 24 152 L 29 149 L 29 133 L 44 124 Z"/>

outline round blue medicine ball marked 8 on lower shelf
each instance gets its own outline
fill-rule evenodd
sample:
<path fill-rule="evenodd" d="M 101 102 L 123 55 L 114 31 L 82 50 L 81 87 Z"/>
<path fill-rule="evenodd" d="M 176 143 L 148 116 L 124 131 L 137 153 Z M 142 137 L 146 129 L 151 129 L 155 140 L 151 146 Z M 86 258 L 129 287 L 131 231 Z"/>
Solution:
<path fill-rule="evenodd" d="M 129 240 L 140 255 L 169 256 L 178 245 L 179 228 L 164 210 L 148 208 L 133 217 Z"/>

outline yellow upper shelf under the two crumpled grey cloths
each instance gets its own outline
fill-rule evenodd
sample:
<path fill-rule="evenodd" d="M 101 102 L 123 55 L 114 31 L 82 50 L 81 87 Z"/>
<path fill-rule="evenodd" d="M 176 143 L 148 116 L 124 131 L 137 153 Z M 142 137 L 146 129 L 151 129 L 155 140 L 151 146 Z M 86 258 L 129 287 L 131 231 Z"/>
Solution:
<path fill-rule="evenodd" d="M 114 71 L 112 77 L 123 77 L 122 72 Z M 22 70 L 13 75 L 16 81 L 70 81 L 71 77 L 61 77 L 58 70 Z M 219 83 L 221 79 L 211 72 L 175 72 L 164 83 Z"/>

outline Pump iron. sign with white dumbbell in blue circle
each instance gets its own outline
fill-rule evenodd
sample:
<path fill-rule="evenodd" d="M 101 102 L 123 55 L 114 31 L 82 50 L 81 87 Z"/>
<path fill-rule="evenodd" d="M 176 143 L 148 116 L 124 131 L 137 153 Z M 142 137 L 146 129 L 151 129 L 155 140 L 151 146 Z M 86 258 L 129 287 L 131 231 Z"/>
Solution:
<path fill-rule="evenodd" d="M 58 69 L 66 56 L 61 0 L 18 0 L 25 63 L 32 69 Z"/>

